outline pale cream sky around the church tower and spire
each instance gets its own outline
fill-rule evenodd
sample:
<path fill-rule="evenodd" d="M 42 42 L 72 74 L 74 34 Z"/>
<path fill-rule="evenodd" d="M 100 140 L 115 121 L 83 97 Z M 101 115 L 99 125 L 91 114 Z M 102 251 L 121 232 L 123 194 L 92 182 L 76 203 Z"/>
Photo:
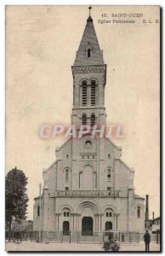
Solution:
<path fill-rule="evenodd" d="M 60 137 L 43 139 L 44 124 L 70 125 L 71 65 L 83 36 L 88 6 L 6 8 L 6 172 L 14 166 L 28 177 L 28 218 L 55 160 Z M 103 18 L 102 15 L 107 16 Z M 127 14 L 134 23 L 113 23 Z M 135 14 L 143 17 L 130 16 Z M 107 64 L 107 123 L 121 124 L 122 160 L 134 169 L 136 194 L 149 195 L 150 218 L 160 207 L 159 9 L 156 6 L 94 6 L 94 28 Z M 111 20 L 101 24 L 98 20 Z M 146 22 L 143 23 L 143 20 Z M 149 23 L 149 20 L 151 23 Z"/>

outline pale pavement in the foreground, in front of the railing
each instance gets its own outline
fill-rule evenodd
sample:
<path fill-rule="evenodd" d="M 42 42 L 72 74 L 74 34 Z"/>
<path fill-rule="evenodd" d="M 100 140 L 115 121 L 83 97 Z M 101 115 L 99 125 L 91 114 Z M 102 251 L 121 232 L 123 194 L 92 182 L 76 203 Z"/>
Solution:
<path fill-rule="evenodd" d="M 121 243 L 119 252 L 144 252 L 144 242 L 138 243 Z M 102 244 L 90 244 L 90 243 L 45 243 L 36 241 L 22 241 L 20 244 L 12 242 L 6 242 L 5 250 L 12 251 L 79 251 L 79 252 L 103 252 Z M 151 242 L 150 250 L 152 252 L 160 252 L 160 245 L 155 242 Z"/>

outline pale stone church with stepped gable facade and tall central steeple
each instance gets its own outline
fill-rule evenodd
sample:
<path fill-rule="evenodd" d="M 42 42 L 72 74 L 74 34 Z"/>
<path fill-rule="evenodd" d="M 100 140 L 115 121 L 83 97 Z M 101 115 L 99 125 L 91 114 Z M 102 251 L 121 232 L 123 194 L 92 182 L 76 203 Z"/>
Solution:
<path fill-rule="evenodd" d="M 77 131 L 81 125 L 106 125 L 106 70 L 89 14 L 71 67 L 71 125 Z M 34 199 L 34 231 L 65 236 L 78 231 L 87 239 L 105 230 L 144 233 L 145 199 L 135 194 L 134 170 L 121 160 L 120 147 L 88 132 L 69 137 L 55 154 L 54 163 L 43 171 L 42 194 Z"/>

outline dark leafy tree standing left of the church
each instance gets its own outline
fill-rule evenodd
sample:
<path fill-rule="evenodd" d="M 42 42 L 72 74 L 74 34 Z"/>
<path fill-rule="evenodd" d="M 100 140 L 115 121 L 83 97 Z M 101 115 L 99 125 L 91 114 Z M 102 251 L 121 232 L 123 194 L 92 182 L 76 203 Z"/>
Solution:
<path fill-rule="evenodd" d="M 12 220 L 26 219 L 28 197 L 26 194 L 27 177 L 24 172 L 15 167 L 5 177 L 5 209 L 6 225 L 9 229 L 9 241 L 11 236 Z"/>

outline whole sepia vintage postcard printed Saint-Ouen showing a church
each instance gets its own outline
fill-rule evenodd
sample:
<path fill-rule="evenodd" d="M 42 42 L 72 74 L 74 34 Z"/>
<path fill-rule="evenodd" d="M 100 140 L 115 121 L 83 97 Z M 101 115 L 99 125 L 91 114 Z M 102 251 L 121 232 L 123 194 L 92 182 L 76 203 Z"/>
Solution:
<path fill-rule="evenodd" d="M 160 252 L 159 6 L 6 6 L 6 251 Z"/>

